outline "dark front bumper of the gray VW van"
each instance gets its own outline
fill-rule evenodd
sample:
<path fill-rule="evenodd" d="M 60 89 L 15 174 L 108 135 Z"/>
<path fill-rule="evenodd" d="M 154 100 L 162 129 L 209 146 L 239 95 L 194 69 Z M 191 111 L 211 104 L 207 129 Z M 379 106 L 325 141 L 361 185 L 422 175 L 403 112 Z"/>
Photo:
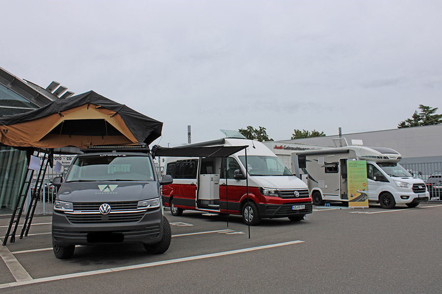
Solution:
<path fill-rule="evenodd" d="M 72 223 L 65 214 L 54 211 L 52 240 L 54 245 L 93 245 L 118 243 L 158 243 L 163 238 L 161 209 L 148 211 L 134 222 Z"/>

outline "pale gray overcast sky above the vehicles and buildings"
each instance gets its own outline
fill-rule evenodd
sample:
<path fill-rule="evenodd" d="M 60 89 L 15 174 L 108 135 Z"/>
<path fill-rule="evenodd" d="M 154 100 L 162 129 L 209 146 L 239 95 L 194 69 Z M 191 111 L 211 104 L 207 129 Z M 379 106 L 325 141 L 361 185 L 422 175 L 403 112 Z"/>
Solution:
<path fill-rule="evenodd" d="M 263 126 L 393 129 L 442 113 L 440 0 L 0 0 L 0 67 L 164 123 L 154 143 Z"/>

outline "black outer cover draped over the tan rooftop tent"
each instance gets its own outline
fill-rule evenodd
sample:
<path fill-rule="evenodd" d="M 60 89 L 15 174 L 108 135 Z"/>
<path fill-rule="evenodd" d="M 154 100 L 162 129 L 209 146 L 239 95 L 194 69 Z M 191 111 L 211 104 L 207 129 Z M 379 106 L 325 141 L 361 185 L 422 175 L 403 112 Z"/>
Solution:
<path fill-rule="evenodd" d="M 149 145 L 155 141 L 155 139 L 161 136 L 161 130 L 163 128 L 162 122 L 151 119 L 124 104 L 119 104 L 112 101 L 111 99 L 101 96 L 94 91 L 89 91 L 66 99 L 56 100 L 41 108 L 25 113 L 0 116 L 0 125 L 10 125 L 32 121 L 87 103 L 99 105 L 118 113 L 123 122 L 127 125 L 129 130 L 140 143 L 144 142 Z"/>

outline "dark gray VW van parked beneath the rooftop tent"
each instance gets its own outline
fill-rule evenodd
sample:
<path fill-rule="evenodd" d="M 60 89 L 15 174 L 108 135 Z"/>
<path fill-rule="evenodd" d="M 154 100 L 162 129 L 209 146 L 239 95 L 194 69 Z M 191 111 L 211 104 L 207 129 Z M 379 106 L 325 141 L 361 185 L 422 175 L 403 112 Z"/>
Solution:
<path fill-rule="evenodd" d="M 164 253 L 171 240 L 163 216 L 160 181 L 148 147 L 91 147 L 73 160 L 59 187 L 52 218 L 58 259 L 70 258 L 75 245 L 142 243 Z"/>

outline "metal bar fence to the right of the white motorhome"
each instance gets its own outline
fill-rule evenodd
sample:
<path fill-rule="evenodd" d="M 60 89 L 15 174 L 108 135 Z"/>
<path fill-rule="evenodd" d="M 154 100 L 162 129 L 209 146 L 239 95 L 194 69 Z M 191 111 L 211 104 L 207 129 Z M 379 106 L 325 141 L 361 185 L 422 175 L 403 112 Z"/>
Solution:
<path fill-rule="evenodd" d="M 430 200 L 442 200 L 442 162 L 406 163 L 402 166 L 425 182 Z"/>

